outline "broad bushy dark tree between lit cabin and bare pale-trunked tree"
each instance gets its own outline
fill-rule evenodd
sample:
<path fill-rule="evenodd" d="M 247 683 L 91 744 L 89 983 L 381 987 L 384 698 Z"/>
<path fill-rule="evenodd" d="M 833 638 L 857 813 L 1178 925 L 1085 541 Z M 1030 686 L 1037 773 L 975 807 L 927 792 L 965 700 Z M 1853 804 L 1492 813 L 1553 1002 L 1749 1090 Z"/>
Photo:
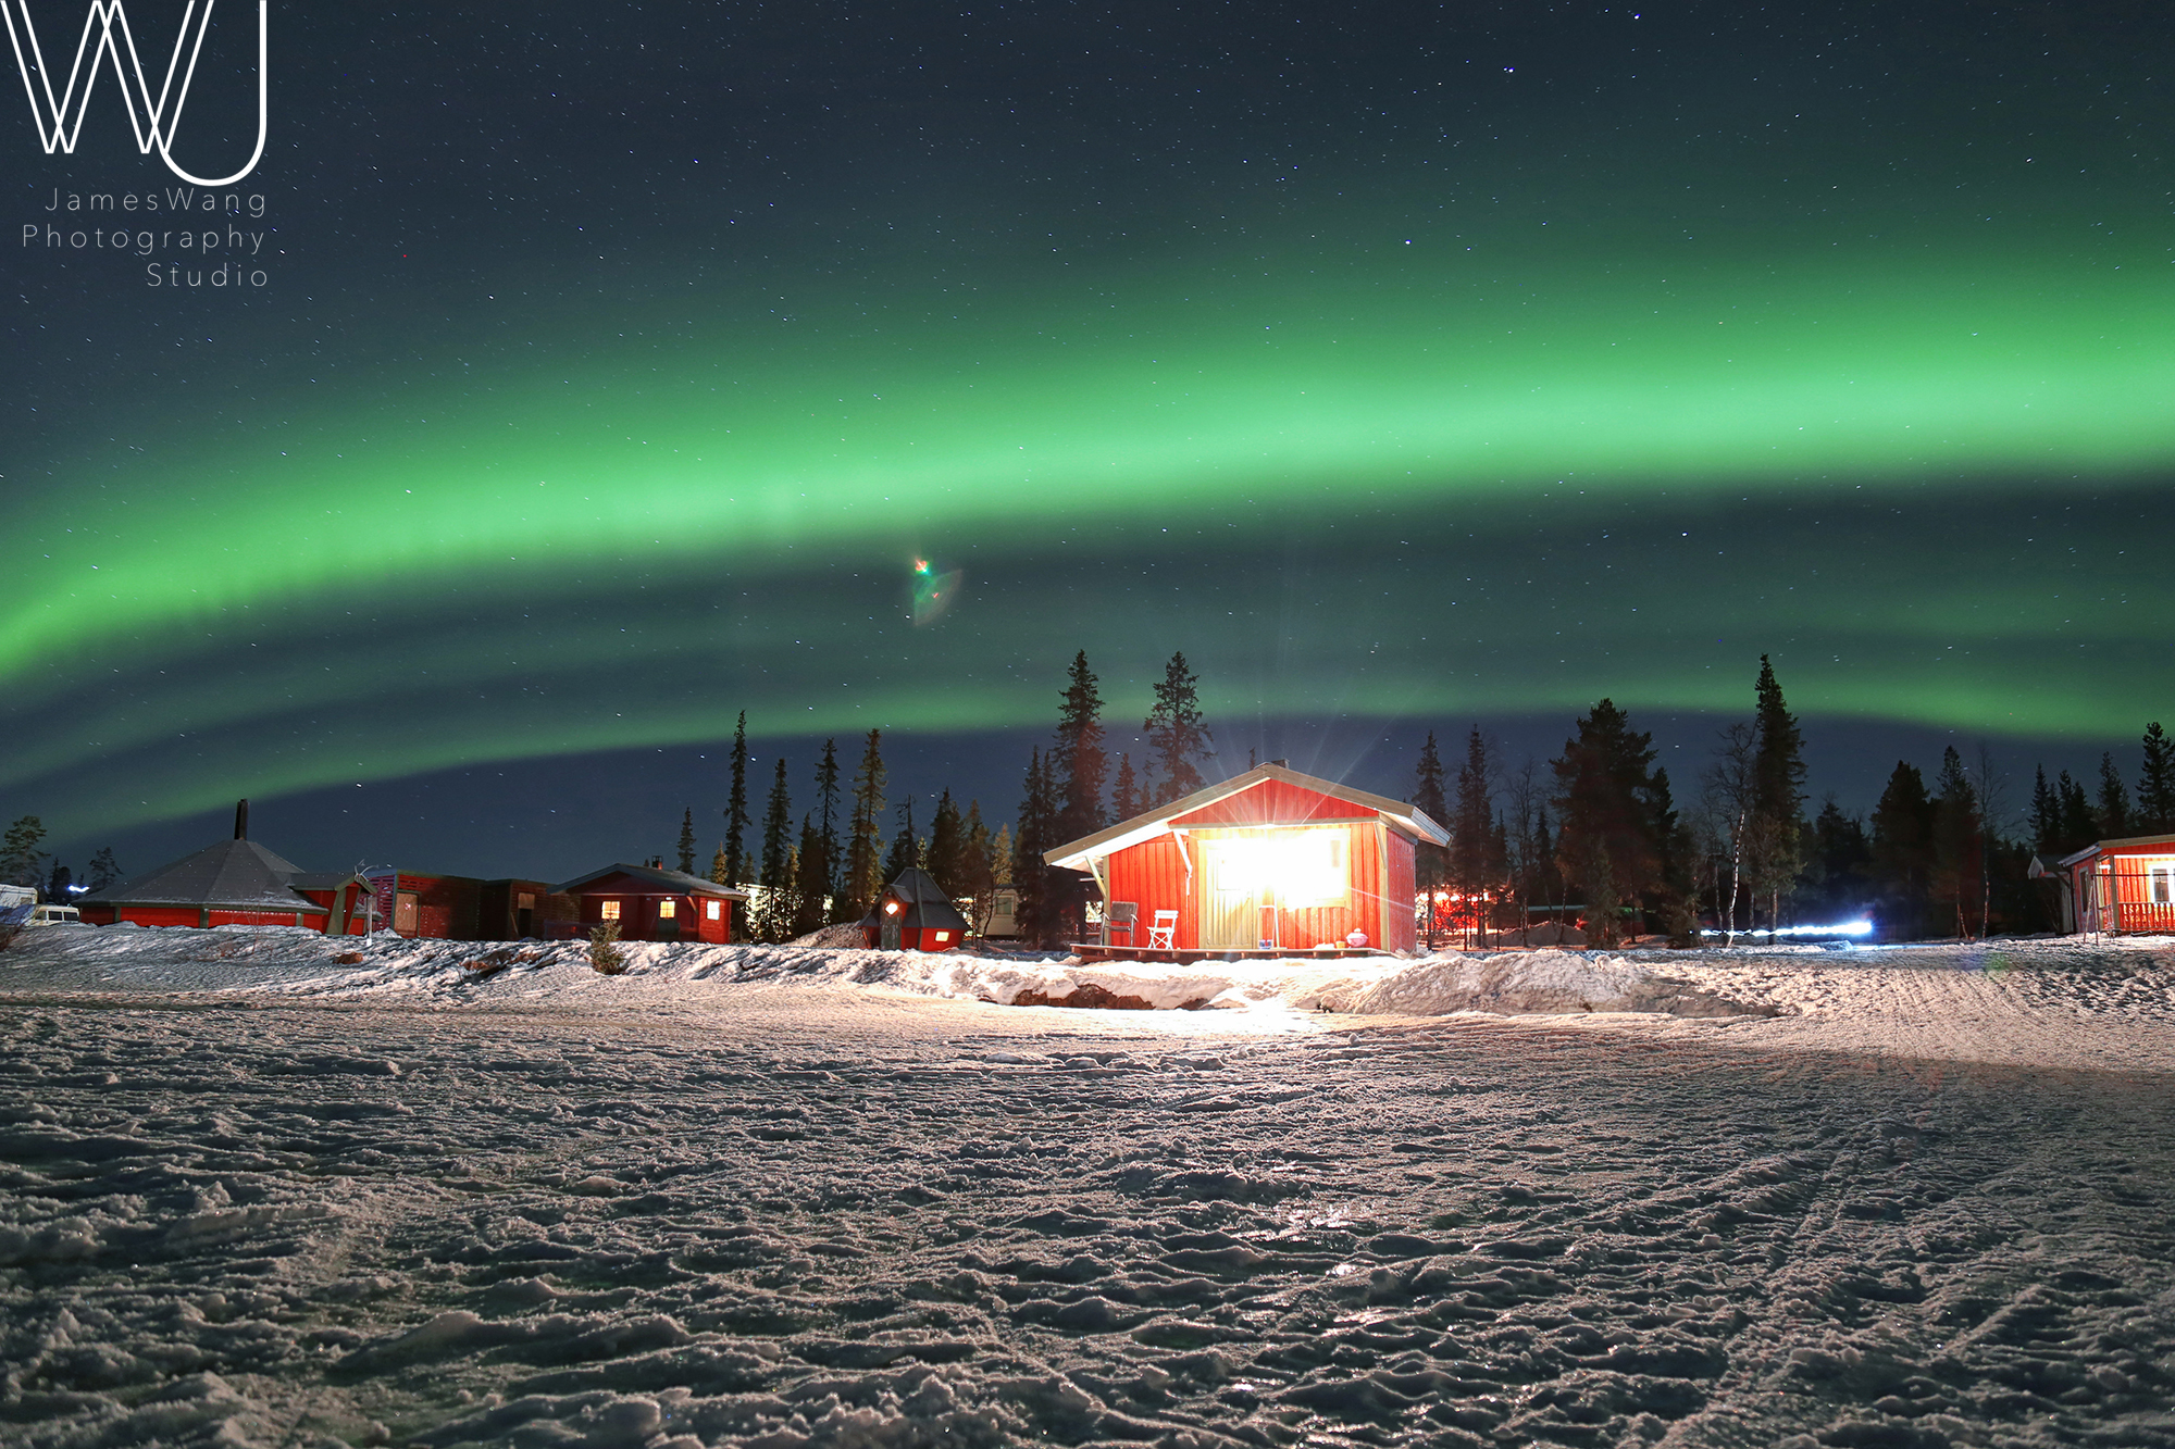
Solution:
<path fill-rule="evenodd" d="M 1623 938 L 1625 905 L 1662 883 L 1655 840 L 1653 735 L 1631 729 L 1614 701 L 1601 701 L 1564 742 L 1555 770 L 1557 864 L 1586 896 L 1592 940 Z"/>

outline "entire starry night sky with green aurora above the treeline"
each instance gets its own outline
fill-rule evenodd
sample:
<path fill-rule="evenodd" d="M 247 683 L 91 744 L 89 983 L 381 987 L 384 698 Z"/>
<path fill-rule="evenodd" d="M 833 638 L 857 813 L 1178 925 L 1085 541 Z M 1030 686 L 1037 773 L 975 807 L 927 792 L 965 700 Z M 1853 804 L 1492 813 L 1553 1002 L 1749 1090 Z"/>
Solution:
<path fill-rule="evenodd" d="M 83 9 L 30 0 L 59 65 Z M 146 70 L 181 9 L 130 2 Z M 1427 729 L 1546 759 L 1607 694 L 1690 781 L 1762 653 L 1853 809 L 1944 742 L 2134 770 L 2171 41 L 2147 0 L 274 2 L 235 215 L 167 209 L 111 70 L 74 157 L 7 81 L 0 816 L 141 870 L 246 794 L 304 866 L 555 877 L 694 805 L 707 862 L 746 709 L 796 798 L 881 727 L 894 794 L 996 818 L 1077 648 L 1124 725 L 1185 651 L 1211 777 L 1405 794 Z M 174 157 L 224 176 L 246 4 L 194 87 Z M 918 561 L 959 572 L 920 620 Z"/>

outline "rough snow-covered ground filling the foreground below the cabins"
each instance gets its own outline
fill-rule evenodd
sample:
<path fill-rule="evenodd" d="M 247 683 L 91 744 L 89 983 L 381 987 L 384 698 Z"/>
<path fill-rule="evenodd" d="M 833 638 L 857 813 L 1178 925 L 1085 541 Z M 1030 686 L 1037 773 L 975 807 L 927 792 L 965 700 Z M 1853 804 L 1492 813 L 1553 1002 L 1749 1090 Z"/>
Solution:
<path fill-rule="evenodd" d="M 0 1442 L 2175 1445 L 2175 942 L 348 951 L 0 953 Z"/>

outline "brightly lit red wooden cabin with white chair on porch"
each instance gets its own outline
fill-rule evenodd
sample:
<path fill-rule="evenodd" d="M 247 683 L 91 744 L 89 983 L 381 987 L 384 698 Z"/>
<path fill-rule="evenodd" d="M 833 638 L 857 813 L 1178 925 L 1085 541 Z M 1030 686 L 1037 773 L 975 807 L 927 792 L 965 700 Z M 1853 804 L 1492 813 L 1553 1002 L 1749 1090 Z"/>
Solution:
<path fill-rule="evenodd" d="M 1416 842 L 1449 844 L 1425 812 L 1266 764 L 1133 816 L 1044 859 L 1085 870 L 1103 918 L 1170 951 L 1412 951 Z M 1114 909 L 1131 905 L 1135 909 Z M 1166 938 L 1168 936 L 1168 946 Z"/>

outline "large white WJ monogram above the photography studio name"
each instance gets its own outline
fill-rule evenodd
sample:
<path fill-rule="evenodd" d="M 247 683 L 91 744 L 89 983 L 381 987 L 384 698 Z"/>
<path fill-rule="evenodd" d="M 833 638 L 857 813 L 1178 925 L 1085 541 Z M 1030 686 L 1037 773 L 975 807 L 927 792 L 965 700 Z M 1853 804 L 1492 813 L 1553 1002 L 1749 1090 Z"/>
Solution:
<path fill-rule="evenodd" d="M 265 0 L 257 0 L 257 150 L 250 163 L 233 176 L 209 181 L 191 176 L 174 161 L 174 133 L 181 131 L 181 111 L 189 104 L 189 81 L 196 78 L 196 57 L 204 50 L 204 33 L 211 30 L 211 7 L 204 0 L 202 20 L 196 17 L 196 0 L 181 13 L 181 33 L 174 37 L 174 57 L 165 63 L 165 81 L 159 98 L 152 100 L 150 81 L 144 78 L 144 61 L 137 57 L 135 37 L 128 33 L 128 11 L 122 0 L 91 0 L 91 13 L 83 20 L 83 39 L 76 41 L 76 63 L 67 72 L 67 89 L 54 98 L 52 70 L 46 52 L 37 44 L 37 26 L 30 24 L 30 0 L 0 0 L 0 15 L 7 17 L 7 39 L 15 48 L 15 65 L 22 70 L 22 89 L 30 96 L 30 113 L 37 117 L 37 139 L 46 144 L 50 157 L 54 148 L 76 154 L 76 137 L 83 133 L 83 117 L 91 109 L 91 87 L 107 57 L 113 57 L 113 76 L 122 87 L 122 104 L 128 109 L 128 128 L 135 131 L 137 150 L 146 157 L 159 148 L 165 168 L 200 187 L 224 187 L 257 170 L 265 154 Z M 22 11 L 22 28 L 15 26 L 15 11 Z M 189 39 L 189 22 L 196 20 L 196 39 Z M 96 41 L 91 37 L 98 37 Z M 26 44 L 28 41 L 28 44 Z M 181 52 L 189 52 L 183 70 Z M 87 63 L 85 63 L 87 61 Z M 157 63 L 157 57 L 152 57 Z M 174 76 L 181 74 L 181 89 Z M 76 87 L 80 89 L 80 96 Z M 172 109 L 170 109 L 172 107 Z"/>

